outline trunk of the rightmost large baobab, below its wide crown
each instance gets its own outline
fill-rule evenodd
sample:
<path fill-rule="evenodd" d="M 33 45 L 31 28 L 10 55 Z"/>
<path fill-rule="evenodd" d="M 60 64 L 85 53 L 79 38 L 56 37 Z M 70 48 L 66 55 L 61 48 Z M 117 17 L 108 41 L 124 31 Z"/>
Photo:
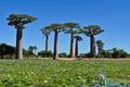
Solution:
<path fill-rule="evenodd" d="M 91 58 L 95 58 L 95 39 L 94 39 L 94 35 L 92 35 L 90 37 L 90 39 L 91 39 L 91 44 L 90 44 Z"/>

